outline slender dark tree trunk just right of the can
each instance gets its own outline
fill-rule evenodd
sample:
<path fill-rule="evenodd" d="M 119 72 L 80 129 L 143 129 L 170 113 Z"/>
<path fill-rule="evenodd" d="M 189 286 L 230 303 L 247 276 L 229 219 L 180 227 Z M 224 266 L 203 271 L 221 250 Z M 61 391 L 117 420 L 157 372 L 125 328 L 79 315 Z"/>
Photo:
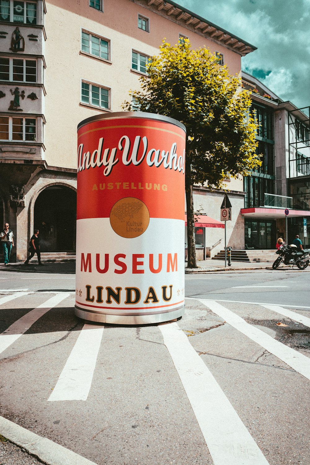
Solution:
<path fill-rule="evenodd" d="M 185 195 L 187 211 L 187 268 L 197 268 L 195 248 L 195 220 L 193 186 L 191 181 L 191 159 L 185 161 Z"/>

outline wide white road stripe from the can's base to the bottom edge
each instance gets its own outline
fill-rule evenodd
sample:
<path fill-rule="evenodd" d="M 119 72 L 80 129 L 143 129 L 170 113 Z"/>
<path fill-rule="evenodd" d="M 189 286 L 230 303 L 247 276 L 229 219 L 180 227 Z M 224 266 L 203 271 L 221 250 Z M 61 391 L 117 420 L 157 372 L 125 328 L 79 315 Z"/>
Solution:
<path fill-rule="evenodd" d="M 214 465 L 268 465 L 213 375 L 177 323 L 159 326 Z"/>

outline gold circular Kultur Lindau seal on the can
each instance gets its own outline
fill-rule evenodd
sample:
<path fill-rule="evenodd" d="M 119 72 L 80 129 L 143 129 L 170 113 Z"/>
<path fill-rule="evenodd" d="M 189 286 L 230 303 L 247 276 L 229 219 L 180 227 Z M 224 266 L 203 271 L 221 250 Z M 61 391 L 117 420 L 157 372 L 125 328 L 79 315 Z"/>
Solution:
<path fill-rule="evenodd" d="M 150 223 L 150 213 L 141 200 L 125 197 L 112 206 L 110 223 L 116 234 L 132 239 L 146 231 Z"/>

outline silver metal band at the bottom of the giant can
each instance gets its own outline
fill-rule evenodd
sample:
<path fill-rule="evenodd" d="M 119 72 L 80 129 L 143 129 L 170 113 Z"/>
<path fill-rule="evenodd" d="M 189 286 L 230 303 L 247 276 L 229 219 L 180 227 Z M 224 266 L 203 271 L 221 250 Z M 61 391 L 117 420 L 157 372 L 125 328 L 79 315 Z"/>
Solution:
<path fill-rule="evenodd" d="M 107 323 L 110 325 L 151 325 L 182 317 L 185 313 L 185 306 L 172 310 L 171 312 L 146 315 L 139 315 L 139 313 L 137 315 L 110 315 L 84 310 L 75 306 L 74 313 L 81 319 L 95 321 L 98 323 Z"/>

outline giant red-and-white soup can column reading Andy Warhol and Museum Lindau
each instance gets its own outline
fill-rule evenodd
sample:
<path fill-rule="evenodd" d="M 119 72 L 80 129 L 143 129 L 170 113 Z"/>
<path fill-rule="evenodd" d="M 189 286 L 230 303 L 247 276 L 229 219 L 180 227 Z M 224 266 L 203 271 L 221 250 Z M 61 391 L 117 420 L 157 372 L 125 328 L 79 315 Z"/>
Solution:
<path fill-rule="evenodd" d="M 78 126 L 76 304 L 120 325 L 184 314 L 185 126 L 152 113 Z"/>

